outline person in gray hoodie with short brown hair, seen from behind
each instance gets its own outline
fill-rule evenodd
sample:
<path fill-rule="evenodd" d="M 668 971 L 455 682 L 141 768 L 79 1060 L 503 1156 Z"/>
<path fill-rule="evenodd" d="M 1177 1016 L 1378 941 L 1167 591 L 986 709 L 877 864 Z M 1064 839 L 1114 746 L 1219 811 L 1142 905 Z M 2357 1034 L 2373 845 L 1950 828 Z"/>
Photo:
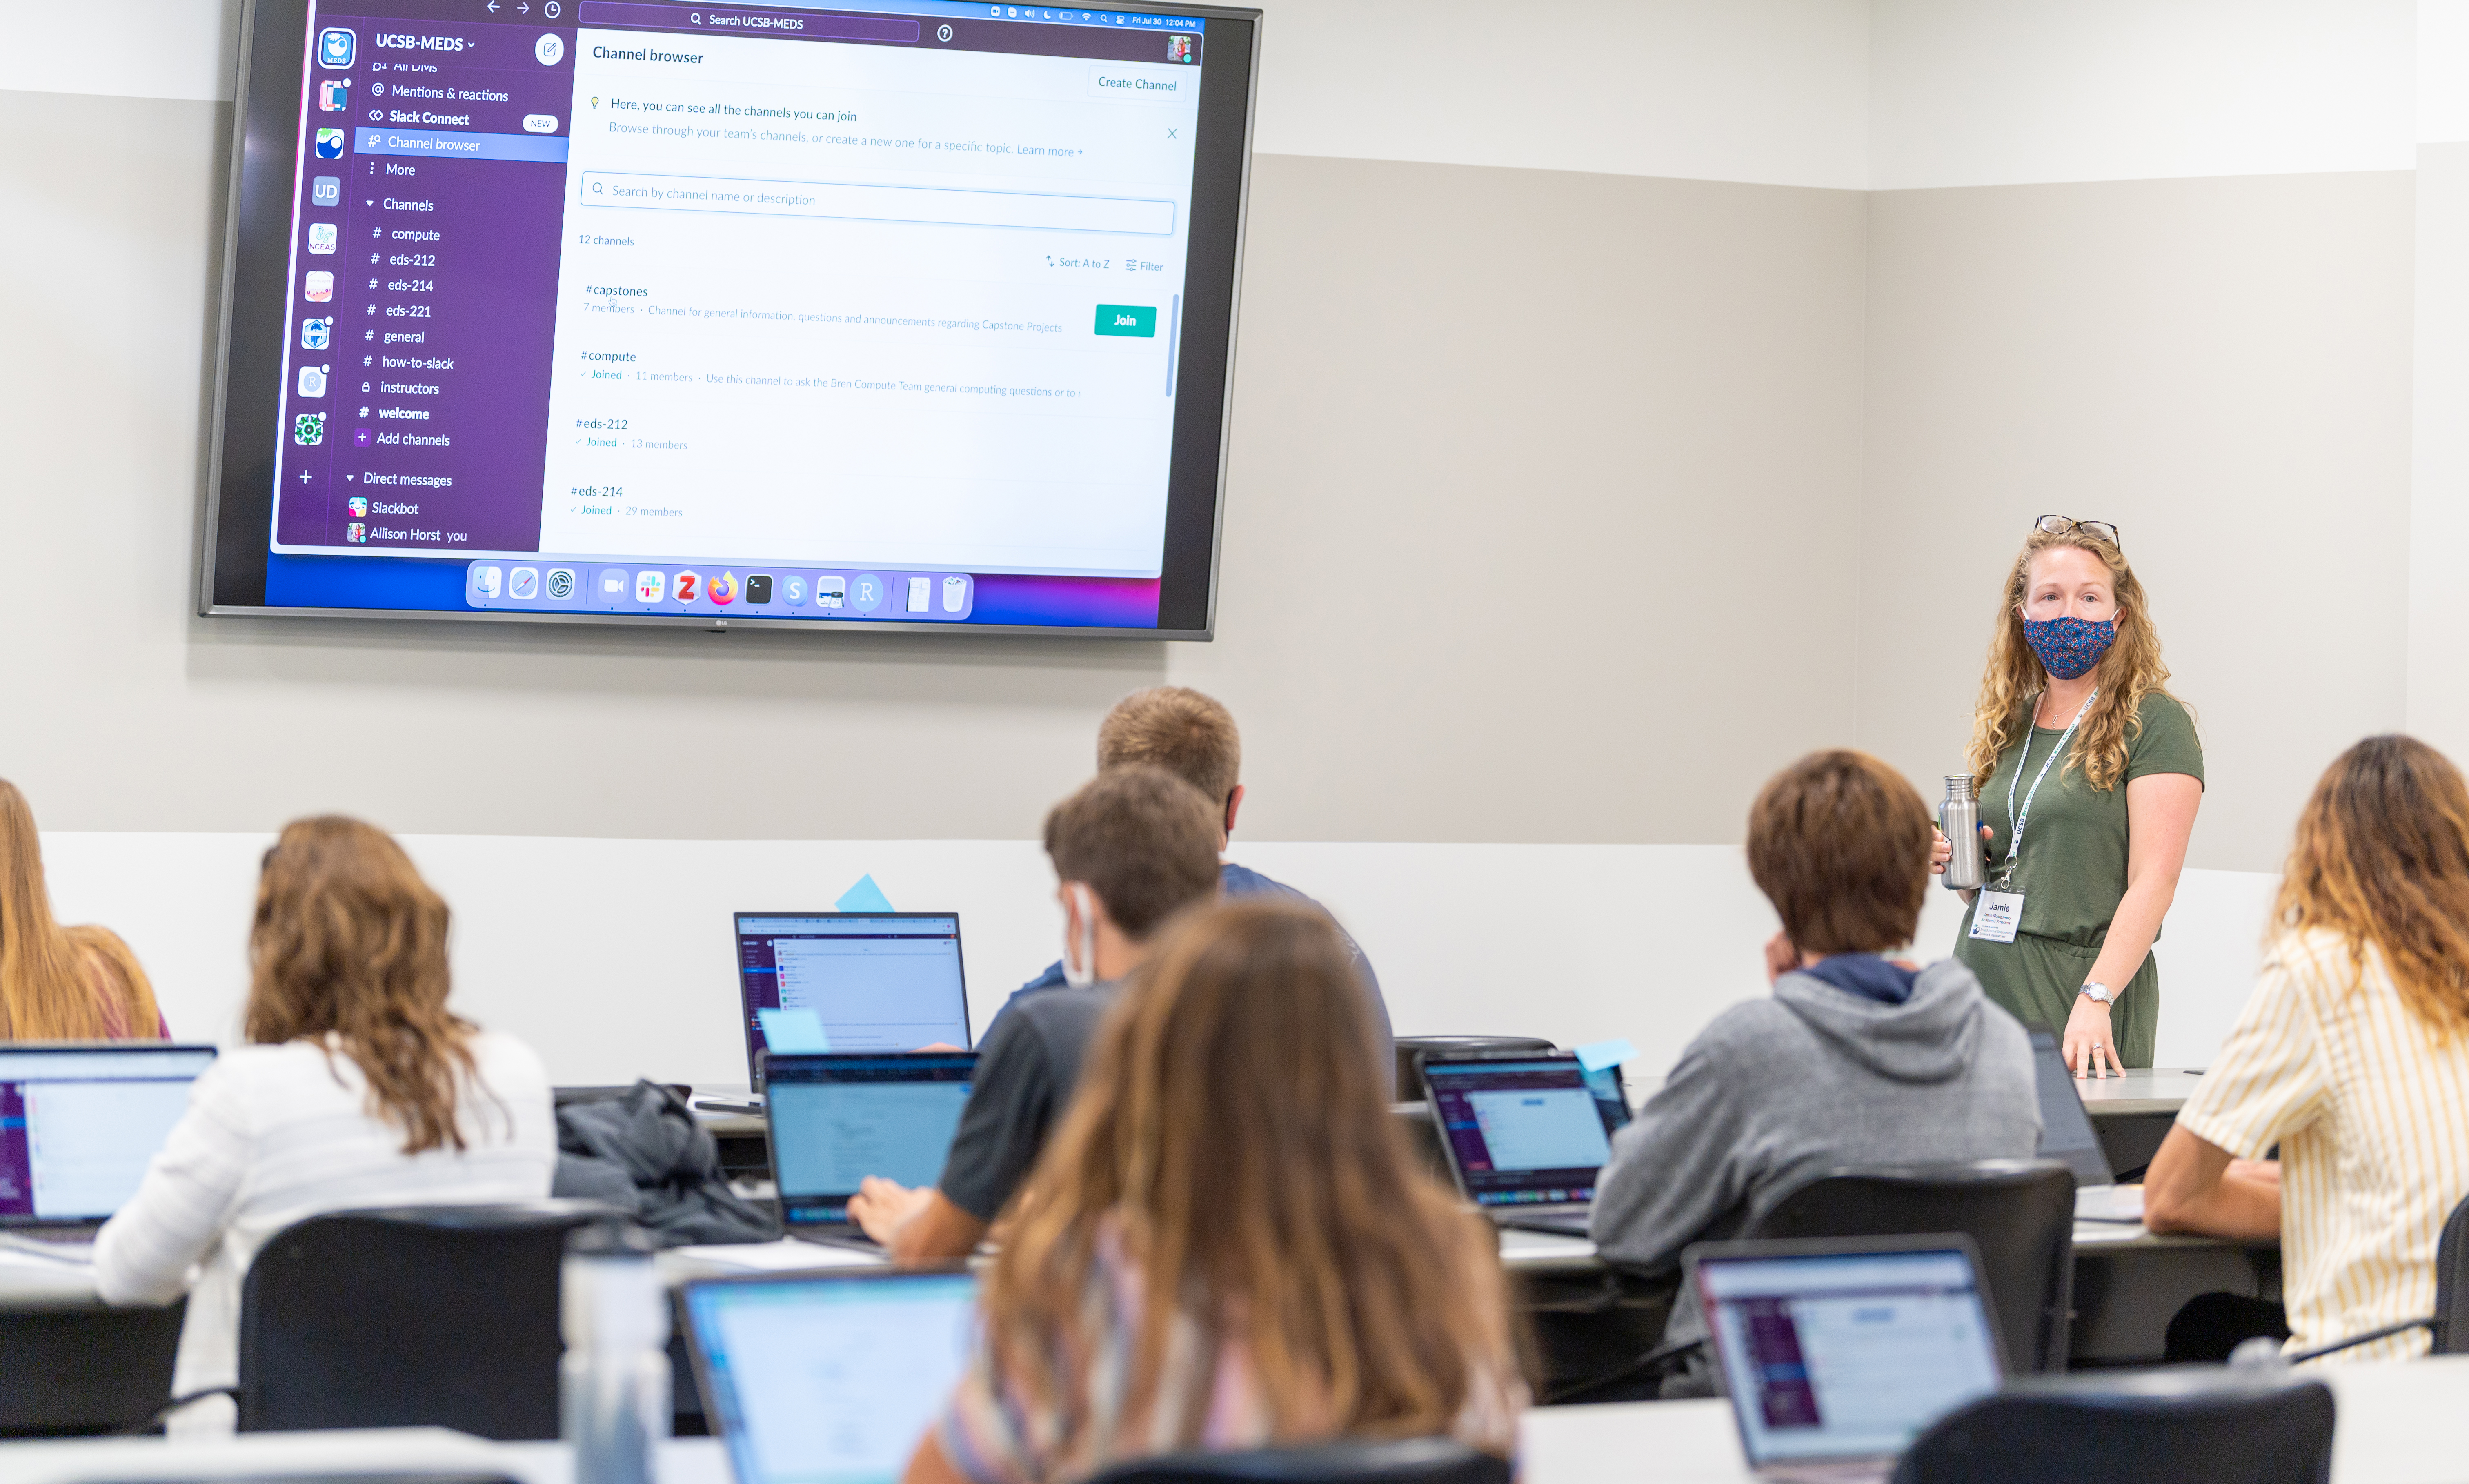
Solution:
<path fill-rule="evenodd" d="M 1953 958 L 1886 958 L 1918 931 L 1931 847 L 1921 795 L 1867 753 L 1810 753 L 1758 793 L 1748 874 L 1783 916 L 1765 946 L 1775 993 L 1716 1015 L 1612 1138 L 1593 1217 L 1605 1259 L 1669 1269 L 1830 1165 L 2034 1153 L 2022 1025 Z M 1664 1341 L 1704 1333 L 1681 1291 Z M 1709 1380 L 1691 1363 L 1664 1395 Z"/>

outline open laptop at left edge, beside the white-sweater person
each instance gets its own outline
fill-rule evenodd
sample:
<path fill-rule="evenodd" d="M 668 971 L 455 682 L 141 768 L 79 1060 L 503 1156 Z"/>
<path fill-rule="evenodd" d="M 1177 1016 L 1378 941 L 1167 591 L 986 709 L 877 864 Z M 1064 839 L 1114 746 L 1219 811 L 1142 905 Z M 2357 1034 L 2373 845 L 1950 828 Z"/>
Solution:
<path fill-rule="evenodd" d="M 0 1047 L 0 1235 L 91 1240 L 138 1190 L 215 1047 Z"/>

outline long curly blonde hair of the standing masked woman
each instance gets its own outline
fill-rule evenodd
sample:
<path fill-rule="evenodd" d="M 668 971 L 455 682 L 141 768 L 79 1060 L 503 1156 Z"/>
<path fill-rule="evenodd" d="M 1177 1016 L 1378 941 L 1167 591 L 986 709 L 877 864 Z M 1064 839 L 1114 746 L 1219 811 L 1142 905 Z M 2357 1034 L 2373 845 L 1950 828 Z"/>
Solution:
<path fill-rule="evenodd" d="M 2032 531 L 1997 595 L 1990 662 L 1980 674 L 1980 701 L 1973 706 L 1973 741 L 1963 748 L 1963 761 L 1973 768 L 1973 788 L 1988 788 L 1990 773 L 1997 770 L 1997 756 L 2025 736 L 2032 726 L 2034 701 L 2049 689 L 2047 667 L 2042 667 L 2039 654 L 2022 637 L 2022 600 L 2032 585 L 2032 558 L 2057 546 L 2096 556 L 2109 568 L 2118 602 L 2118 640 L 2091 669 L 2091 684 L 2101 694 L 2094 699 L 2091 714 L 2074 731 L 2074 751 L 2059 765 L 2059 778 L 2064 778 L 2067 768 L 2081 763 L 2091 788 L 2104 793 L 2116 788 L 2126 778 L 2126 743 L 2143 726 L 2143 696 L 2168 694 L 2160 632 L 2153 630 L 2143 583 L 2126 565 L 2126 553 L 2113 541 L 2101 541 L 2084 528 L 2067 533 Z"/>

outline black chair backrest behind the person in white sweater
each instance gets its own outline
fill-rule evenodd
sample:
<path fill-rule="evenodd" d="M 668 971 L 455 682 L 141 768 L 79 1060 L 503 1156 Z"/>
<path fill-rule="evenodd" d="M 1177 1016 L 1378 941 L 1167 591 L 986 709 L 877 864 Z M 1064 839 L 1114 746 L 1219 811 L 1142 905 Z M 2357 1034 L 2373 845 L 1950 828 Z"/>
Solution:
<path fill-rule="evenodd" d="M 239 1430 L 558 1435 L 565 1235 L 595 1200 L 343 1210 L 284 1227 L 239 1291 Z"/>

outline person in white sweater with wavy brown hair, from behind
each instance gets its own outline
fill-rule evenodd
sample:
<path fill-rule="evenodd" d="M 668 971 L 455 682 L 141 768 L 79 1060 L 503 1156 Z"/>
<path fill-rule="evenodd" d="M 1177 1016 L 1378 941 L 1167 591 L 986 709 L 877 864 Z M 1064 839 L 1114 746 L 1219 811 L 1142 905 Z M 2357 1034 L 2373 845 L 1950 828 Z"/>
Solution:
<path fill-rule="evenodd" d="M 239 1284 L 284 1227 L 370 1205 L 538 1200 L 548 1074 L 447 1010 L 447 904 L 385 832 L 289 825 L 249 933 L 249 1044 L 215 1059 L 136 1198 L 94 1242 L 106 1304 L 188 1294 L 173 1395 L 239 1383 Z M 215 1395 L 173 1435 L 230 1432 Z"/>

